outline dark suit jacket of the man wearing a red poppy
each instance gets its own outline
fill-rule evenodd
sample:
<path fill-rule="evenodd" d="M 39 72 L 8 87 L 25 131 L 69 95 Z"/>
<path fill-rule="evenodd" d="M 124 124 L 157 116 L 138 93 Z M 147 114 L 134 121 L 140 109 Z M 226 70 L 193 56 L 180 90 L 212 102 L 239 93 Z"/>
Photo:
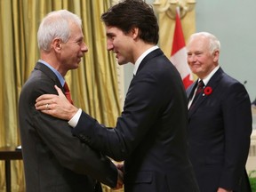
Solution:
<path fill-rule="evenodd" d="M 201 94 L 188 112 L 189 157 L 199 188 L 202 192 L 216 192 L 218 187 L 251 191 L 245 172 L 252 132 L 248 93 L 221 68 L 206 87 L 212 93 Z M 188 98 L 195 88 L 196 83 L 188 87 Z"/>

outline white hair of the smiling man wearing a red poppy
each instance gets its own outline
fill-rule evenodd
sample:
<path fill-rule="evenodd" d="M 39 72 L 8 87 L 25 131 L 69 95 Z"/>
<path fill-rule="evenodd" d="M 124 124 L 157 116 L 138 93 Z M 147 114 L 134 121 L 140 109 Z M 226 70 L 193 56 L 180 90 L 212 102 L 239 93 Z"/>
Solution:
<path fill-rule="evenodd" d="M 212 34 L 208 32 L 198 32 L 195 34 L 192 34 L 189 38 L 189 42 L 194 39 L 196 36 L 204 36 L 209 40 L 209 51 L 213 53 L 214 51 L 218 50 L 220 51 L 220 41 L 216 36 L 213 36 Z"/>

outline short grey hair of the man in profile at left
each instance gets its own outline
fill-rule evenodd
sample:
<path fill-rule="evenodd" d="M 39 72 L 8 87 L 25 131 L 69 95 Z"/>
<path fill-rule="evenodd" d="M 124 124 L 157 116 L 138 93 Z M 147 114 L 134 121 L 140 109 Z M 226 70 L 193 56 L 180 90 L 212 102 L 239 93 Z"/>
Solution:
<path fill-rule="evenodd" d="M 49 51 L 54 38 L 68 42 L 70 35 L 69 23 L 82 26 L 82 20 L 74 13 L 60 10 L 48 13 L 42 20 L 37 31 L 37 42 L 40 50 Z"/>

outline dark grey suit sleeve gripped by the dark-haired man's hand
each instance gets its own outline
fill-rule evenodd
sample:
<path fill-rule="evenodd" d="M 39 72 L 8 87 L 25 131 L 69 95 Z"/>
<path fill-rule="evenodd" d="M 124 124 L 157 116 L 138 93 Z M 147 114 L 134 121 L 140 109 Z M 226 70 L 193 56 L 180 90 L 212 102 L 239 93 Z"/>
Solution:
<path fill-rule="evenodd" d="M 44 84 L 46 86 L 35 84 L 36 88 L 31 90 L 36 90 L 36 92 L 31 94 L 30 100 L 36 100 L 39 95 L 44 93 L 57 93 L 53 84 L 49 84 L 49 82 L 44 82 Z M 87 174 L 109 187 L 115 188 L 116 165 L 108 157 L 74 137 L 71 132 L 72 128 L 67 121 L 45 115 L 37 111 L 34 105 L 35 102 L 32 102 L 30 107 L 34 111 L 33 124 L 35 124 L 36 132 L 60 161 L 60 164 L 73 172 Z"/>

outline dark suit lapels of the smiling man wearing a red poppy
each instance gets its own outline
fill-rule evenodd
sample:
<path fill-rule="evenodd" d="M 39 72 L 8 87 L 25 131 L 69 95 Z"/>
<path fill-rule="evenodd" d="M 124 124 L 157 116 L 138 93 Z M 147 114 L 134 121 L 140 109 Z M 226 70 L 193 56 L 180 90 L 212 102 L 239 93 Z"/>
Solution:
<path fill-rule="evenodd" d="M 214 92 L 214 89 L 216 89 L 216 87 L 218 86 L 218 83 L 220 81 L 220 79 L 222 78 L 222 74 L 223 74 L 223 70 L 222 68 L 219 68 L 216 73 L 212 76 L 212 78 L 210 79 L 210 81 L 208 82 L 208 84 L 206 84 L 205 87 L 211 87 L 212 88 L 212 92 Z M 193 89 L 191 89 L 191 92 L 188 93 L 190 97 L 193 96 L 194 90 L 196 89 L 196 85 L 193 86 Z M 192 92 L 193 90 L 193 92 Z M 192 96 L 191 96 L 192 95 Z M 188 118 L 190 118 L 190 116 L 196 112 L 196 109 L 199 108 L 203 103 L 204 100 L 207 100 L 208 96 L 204 94 L 204 92 L 202 94 L 200 94 L 196 100 L 196 102 L 193 105 L 193 108 L 190 108 L 188 110 Z"/>

